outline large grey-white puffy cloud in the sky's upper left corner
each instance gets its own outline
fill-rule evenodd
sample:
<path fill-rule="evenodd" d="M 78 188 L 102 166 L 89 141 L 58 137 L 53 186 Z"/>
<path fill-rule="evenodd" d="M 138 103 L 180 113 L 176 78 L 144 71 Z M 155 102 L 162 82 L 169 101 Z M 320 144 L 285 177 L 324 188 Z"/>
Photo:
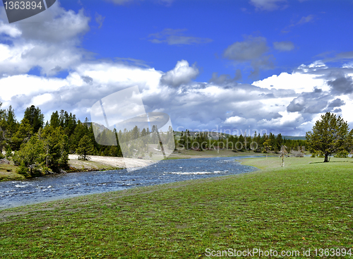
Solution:
<path fill-rule="evenodd" d="M 25 21 L 6 21 L 4 8 L 0 8 L 0 40 L 9 42 L 0 43 L 0 76 L 25 74 L 34 67 L 52 76 L 79 64 L 87 54 L 77 47 L 80 35 L 90 30 L 90 18 L 83 10 L 66 11 L 57 2 Z"/>

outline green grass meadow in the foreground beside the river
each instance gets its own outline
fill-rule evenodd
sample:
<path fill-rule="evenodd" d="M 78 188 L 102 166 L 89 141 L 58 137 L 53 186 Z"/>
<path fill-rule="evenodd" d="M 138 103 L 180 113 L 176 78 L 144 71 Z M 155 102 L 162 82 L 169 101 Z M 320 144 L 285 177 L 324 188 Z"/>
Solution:
<path fill-rule="evenodd" d="M 262 170 L 1 210 L 0 257 L 208 258 L 206 248 L 353 255 L 353 159 L 322 161 L 244 159 Z"/>

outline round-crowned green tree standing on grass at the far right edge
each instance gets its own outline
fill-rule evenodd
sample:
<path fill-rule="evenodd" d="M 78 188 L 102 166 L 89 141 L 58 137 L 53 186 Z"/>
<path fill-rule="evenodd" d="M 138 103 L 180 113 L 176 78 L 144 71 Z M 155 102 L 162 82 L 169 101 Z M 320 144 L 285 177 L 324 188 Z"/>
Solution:
<path fill-rule="evenodd" d="M 316 121 L 312 131 L 306 133 L 309 150 L 325 155 L 323 162 L 328 162 L 328 156 L 336 152 L 352 148 L 353 130 L 349 131 L 347 121 L 340 116 L 326 112 Z"/>

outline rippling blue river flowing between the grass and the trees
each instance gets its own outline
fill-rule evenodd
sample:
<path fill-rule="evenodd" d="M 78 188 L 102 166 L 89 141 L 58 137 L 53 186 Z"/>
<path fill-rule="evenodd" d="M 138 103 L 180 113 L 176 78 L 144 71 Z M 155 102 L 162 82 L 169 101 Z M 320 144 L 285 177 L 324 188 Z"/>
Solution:
<path fill-rule="evenodd" d="M 0 182 L 0 209 L 90 193 L 119 191 L 191 179 L 201 179 L 256 170 L 234 159 L 210 157 L 162 160 L 136 171 L 89 171 L 36 177 L 25 181 Z"/>

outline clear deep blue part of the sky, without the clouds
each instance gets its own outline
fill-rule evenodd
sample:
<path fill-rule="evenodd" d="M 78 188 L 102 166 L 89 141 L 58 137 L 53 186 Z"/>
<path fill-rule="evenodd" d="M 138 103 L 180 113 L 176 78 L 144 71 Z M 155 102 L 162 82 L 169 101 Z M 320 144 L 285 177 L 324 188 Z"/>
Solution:
<path fill-rule="evenodd" d="M 139 59 L 148 66 L 168 71 L 176 60 L 197 63 L 202 69 L 198 80 L 207 82 L 212 73 L 234 75 L 240 69 L 242 82 L 252 83 L 301 64 L 313 62 L 318 55 L 352 50 L 352 1 L 278 1 L 275 10 L 256 9 L 249 1 L 131 1 L 124 5 L 112 1 L 61 1 L 62 6 L 85 11 L 92 16 L 91 30 L 82 46 L 97 58 Z M 169 3 L 169 2 L 168 2 Z M 104 18 L 102 27 L 93 17 Z M 169 29 L 169 34 L 165 31 Z M 164 32 L 164 35 L 163 35 Z M 177 42 L 152 43 L 168 37 L 193 37 Z M 248 78 L 253 68 L 223 56 L 225 49 L 244 38 L 264 37 L 273 68 L 262 69 Z M 198 41 L 198 42 L 197 42 Z M 291 51 L 275 49 L 274 42 L 292 42 Z M 245 62 L 246 63 L 246 62 Z"/>

